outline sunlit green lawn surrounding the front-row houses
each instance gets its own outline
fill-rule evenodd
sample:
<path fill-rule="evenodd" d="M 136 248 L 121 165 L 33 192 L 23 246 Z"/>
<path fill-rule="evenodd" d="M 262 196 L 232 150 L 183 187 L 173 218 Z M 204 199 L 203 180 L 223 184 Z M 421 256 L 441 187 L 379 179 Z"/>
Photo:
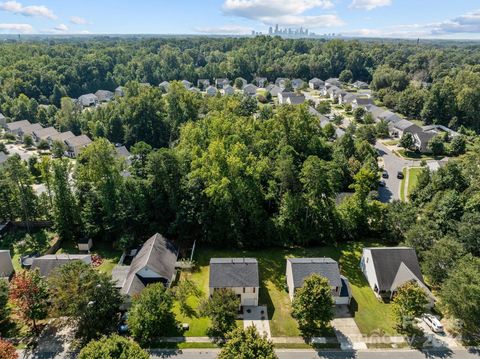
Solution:
<path fill-rule="evenodd" d="M 259 262 L 260 270 L 260 297 L 259 304 L 268 307 L 268 317 L 272 336 L 300 336 L 297 322 L 291 316 L 291 303 L 286 290 L 285 270 L 288 257 L 331 257 L 338 260 L 342 273 L 349 278 L 354 299 L 352 299 L 352 314 L 362 333 L 384 331 L 394 334 L 394 323 L 391 314 L 391 305 L 377 300 L 373 291 L 360 271 L 359 263 L 361 250 L 364 246 L 374 246 L 375 243 L 347 243 L 339 247 L 316 248 L 269 248 L 255 251 L 243 250 L 216 250 L 210 248 L 197 248 L 195 260 L 198 270 L 194 273 L 183 272 L 182 278 L 190 278 L 208 293 L 208 264 L 214 257 L 254 257 Z M 198 305 L 197 298 L 190 298 L 190 305 Z M 182 323 L 189 323 L 190 329 L 186 336 L 205 336 L 209 320 L 206 318 L 186 318 L 180 315 L 175 307 L 177 319 Z M 241 323 L 239 323 L 241 325 Z M 334 336 L 327 330 L 325 336 Z"/>

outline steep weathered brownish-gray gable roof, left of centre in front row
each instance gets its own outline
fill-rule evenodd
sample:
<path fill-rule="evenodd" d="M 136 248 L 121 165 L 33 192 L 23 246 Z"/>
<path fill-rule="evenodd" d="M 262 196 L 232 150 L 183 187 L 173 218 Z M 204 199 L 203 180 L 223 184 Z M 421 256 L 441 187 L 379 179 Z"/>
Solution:
<path fill-rule="evenodd" d="M 177 249 L 170 241 L 161 234 L 154 234 L 133 258 L 121 292 L 132 296 L 140 293 L 148 284 L 152 283 L 151 279 L 142 278 L 139 275 L 139 272 L 145 267 L 162 277 L 164 284 L 170 285 L 175 273 L 177 255 Z"/>

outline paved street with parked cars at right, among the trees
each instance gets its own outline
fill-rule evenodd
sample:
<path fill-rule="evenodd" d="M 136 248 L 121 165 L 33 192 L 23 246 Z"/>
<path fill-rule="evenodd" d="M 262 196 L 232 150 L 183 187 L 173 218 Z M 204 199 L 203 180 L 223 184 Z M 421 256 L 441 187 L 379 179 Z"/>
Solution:
<path fill-rule="evenodd" d="M 381 202 L 391 202 L 400 199 L 400 182 L 397 178 L 397 172 L 402 171 L 403 167 L 412 167 L 419 164 L 419 161 L 404 160 L 392 153 L 385 145 L 377 142 L 375 148 L 380 157 L 383 158 L 384 169 L 388 172 L 388 178 L 385 181 L 385 187 L 379 187 L 378 196 Z"/>

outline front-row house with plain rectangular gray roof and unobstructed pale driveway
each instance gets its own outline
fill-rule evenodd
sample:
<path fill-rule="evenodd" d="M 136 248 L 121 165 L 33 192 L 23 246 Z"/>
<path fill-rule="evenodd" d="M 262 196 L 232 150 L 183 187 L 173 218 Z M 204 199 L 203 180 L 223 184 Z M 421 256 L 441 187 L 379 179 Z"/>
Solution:
<path fill-rule="evenodd" d="M 211 258 L 209 294 L 218 289 L 231 289 L 240 305 L 258 306 L 260 280 L 255 258 Z"/>

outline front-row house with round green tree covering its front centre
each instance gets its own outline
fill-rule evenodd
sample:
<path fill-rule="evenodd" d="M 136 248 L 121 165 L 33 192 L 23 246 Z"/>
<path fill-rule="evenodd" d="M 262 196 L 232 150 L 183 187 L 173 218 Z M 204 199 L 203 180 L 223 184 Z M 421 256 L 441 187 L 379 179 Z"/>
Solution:
<path fill-rule="evenodd" d="M 303 282 L 312 274 L 318 274 L 328 279 L 332 289 L 335 304 L 350 304 L 352 298 L 348 279 L 340 274 L 337 261 L 331 258 L 288 258 L 287 286 L 290 300 L 295 291 L 303 286 Z"/>

